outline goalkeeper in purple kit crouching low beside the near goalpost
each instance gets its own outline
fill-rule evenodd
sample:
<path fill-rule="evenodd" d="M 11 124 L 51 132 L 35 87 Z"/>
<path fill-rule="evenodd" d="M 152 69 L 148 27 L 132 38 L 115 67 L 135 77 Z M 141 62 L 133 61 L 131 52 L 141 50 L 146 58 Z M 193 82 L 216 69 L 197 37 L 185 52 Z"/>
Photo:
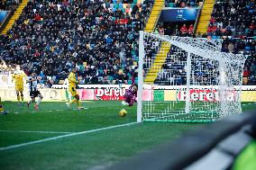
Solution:
<path fill-rule="evenodd" d="M 124 100 L 122 102 L 123 105 L 133 106 L 133 103 L 137 103 L 137 91 L 138 85 L 135 84 L 135 77 L 133 76 L 132 85 L 126 90 L 124 94 Z"/>

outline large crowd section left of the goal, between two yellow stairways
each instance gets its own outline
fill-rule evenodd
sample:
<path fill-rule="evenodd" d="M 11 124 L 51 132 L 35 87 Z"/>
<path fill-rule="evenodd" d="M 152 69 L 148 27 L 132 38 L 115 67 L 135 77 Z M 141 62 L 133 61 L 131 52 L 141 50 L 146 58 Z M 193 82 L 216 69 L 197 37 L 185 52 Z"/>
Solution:
<path fill-rule="evenodd" d="M 20 64 L 25 73 L 35 70 L 45 83 L 58 84 L 71 67 L 78 67 L 84 84 L 131 82 L 138 60 L 138 31 L 153 1 L 70 2 L 29 2 L 9 35 L 1 35 L 1 58 L 7 65 Z"/>

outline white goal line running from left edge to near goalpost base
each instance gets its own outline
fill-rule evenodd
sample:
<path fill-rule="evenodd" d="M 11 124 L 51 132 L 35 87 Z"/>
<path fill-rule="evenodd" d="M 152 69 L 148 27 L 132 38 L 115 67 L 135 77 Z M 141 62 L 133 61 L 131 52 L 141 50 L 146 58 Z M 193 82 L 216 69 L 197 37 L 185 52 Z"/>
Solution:
<path fill-rule="evenodd" d="M 12 145 L 12 146 L 9 146 L 9 147 L 3 147 L 3 148 L 0 148 L 0 151 L 1 150 L 12 149 L 12 148 L 21 148 L 21 147 L 25 147 L 25 146 L 32 145 L 32 144 L 42 143 L 42 142 L 45 142 L 45 141 L 56 140 L 56 139 L 64 139 L 64 138 L 73 137 L 73 136 L 77 136 L 77 135 L 93 133 L 93 132 L 101 131 L 101 130 L 111 130 L 111 129 L 114 129 L 114 128 L 119 128 L 119 127 L 123 127 L 123 126 L 133 125 L 135 123 L 137 123 L 137 122 L 120 124 L 120 125 L 114 125 L 114 126 L 109 126 L 109 127 L 105 127 L 105 128 L 96 129 L 96 130 L 86 130 L 86 131 L 80 131 L 80 132 L 75 132 L 75 133 L 69 133 L 67 135 L 60 135 L 60 136 L 52 137 L 52 138 L 49 138 L 49 139 L 34 140 L 34 141 L 31 141 L 31 142 L 27 142 L 27 143 L 22 143 L 22 144 L 18 144 L 18 145 Z"/>

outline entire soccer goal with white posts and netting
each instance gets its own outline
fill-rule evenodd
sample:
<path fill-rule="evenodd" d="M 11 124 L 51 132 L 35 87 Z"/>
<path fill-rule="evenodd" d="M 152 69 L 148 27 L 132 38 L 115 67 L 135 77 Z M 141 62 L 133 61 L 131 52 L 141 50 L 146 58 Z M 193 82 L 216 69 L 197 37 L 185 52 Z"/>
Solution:
<path fill-rule="evenodd" d="M 140 31 L 137 121 L 209 122 L 238 114 L 245 57 L 222 40 Z"/>

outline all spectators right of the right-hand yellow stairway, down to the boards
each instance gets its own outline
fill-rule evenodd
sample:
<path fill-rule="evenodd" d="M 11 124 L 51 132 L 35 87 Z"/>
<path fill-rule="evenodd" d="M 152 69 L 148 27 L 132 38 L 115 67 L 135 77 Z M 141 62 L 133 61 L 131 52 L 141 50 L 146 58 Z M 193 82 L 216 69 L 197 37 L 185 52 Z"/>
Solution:
<path fill-rule="evenodd" d="M 255 14 L 252 0 L 223 0 L 215 3 L 207 29 L 207 35 L 212 38 L 225 38 L 224 52 L 242 53 L 247 57 L 243 85 L 256 85 Z"/>

